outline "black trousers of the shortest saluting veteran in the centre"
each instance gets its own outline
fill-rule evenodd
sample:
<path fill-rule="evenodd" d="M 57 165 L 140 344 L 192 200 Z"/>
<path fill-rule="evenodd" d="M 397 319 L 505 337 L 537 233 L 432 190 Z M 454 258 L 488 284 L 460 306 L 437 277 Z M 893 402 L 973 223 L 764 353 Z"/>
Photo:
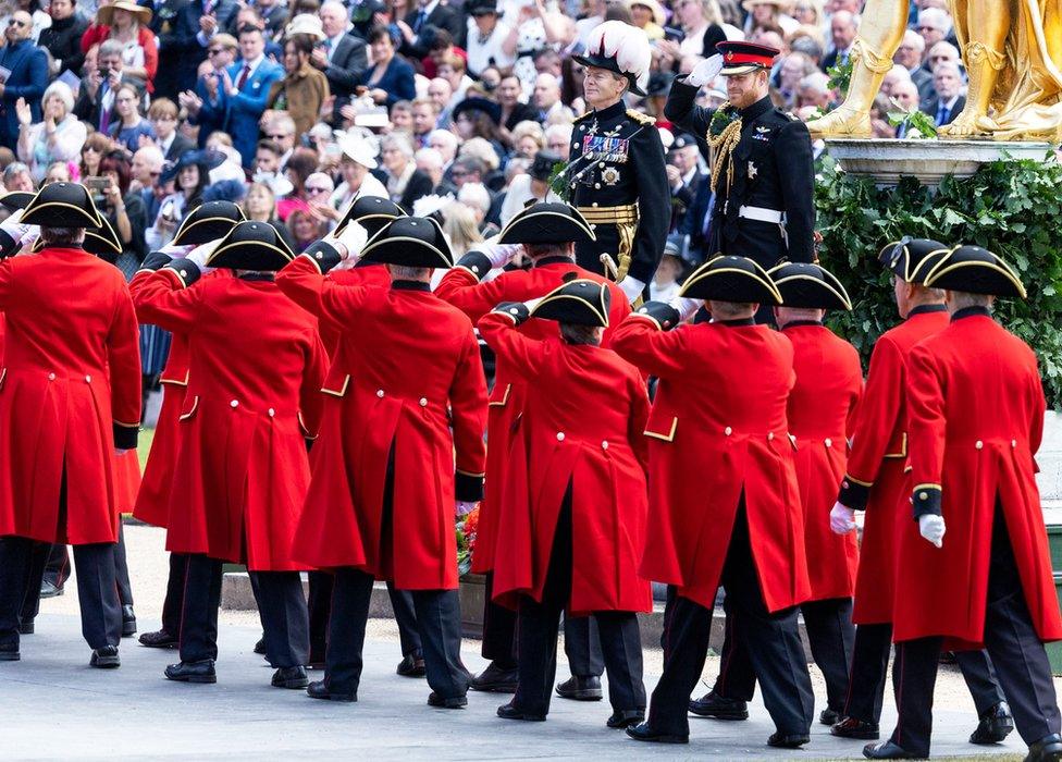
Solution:
<path fill-rule="evenodd" d="M 546 714 L 557 675 L 557 635 L 560 614 L 571 599 L 572 538 L 571 488 L 565 495 L 542 600 L 530 595 L 520 601 L 519 616 L 519 686 L 513 704 L 530 714 Z M 567 618 L 567 616 L 566 616 Z M 586 619 L 589 617 L 579 617 Z M 571 622 L 579 622 L 572 618 Z M 617 712 L 645 709 L 645 686 L 642 684 L 642 646 L 638 617 L 633 612 L 595 612 L 601 636 L 602 656 L 608 671 L 608 700 Z M 586 631 L 589 632 L 589 626 Z M 567 635 L 565 636 L 567 644 Z M 572 669 L 575 674 L 575 669 Z"/>

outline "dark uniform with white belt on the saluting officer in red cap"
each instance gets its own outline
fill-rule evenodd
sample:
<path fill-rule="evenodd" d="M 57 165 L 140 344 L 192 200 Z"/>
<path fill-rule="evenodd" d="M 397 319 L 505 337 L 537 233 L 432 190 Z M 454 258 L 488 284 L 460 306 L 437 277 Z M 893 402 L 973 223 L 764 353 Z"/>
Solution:
<path fill-rule="evenodd" d="M 699 89 L 676 79 L 664 112 L 671 122 L 703 137 L 716 110 L 694 105 Z M 708 256 L 750 257 L 764 268 L 782 257 L 813 261 L 815 168 L 807 127 L 774 108 L 766 97 L 738 114 L 741 139 L 730 156 L 730 184 L 726 163 L 716 182 Z"/>

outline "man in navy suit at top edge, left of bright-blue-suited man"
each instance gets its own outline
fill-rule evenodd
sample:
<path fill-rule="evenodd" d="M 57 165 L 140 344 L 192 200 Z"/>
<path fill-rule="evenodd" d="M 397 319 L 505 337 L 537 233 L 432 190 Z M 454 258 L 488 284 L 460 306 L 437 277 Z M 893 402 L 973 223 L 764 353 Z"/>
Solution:
<path fill-rule="evenodd" d="M 195 86 L 211 38 L 224 30 L 236 10 L 233 0 L 192 0 L 177 12 L 172 32 L 159 35 L 159 71 L 172 74 L 172 91 L 160 95 L 173 97 Z"/>

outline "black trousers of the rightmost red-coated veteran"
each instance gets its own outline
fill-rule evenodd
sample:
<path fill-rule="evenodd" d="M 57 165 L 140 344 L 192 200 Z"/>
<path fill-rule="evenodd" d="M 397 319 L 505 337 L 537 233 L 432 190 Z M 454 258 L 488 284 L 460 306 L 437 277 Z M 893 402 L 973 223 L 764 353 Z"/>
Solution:
<path fill-rule="evenodd" d="M 926 585 L 933 580 L 927 579 Z M 899 718 L 892 741 L 918 757 L 928 757 L 933 730 L 933 690 L 942 638 L 918 638 L 897 643 L 892 686 Z M 1059 733 L 1059 715 L 1051 665 L 1036 635 L 1025 592 L 999 505 L 992 523 L 985 611 L 985 649 L 997 666 L 1003 695 L 1014 714 L 1022 739 L 1035 743 Z"/>

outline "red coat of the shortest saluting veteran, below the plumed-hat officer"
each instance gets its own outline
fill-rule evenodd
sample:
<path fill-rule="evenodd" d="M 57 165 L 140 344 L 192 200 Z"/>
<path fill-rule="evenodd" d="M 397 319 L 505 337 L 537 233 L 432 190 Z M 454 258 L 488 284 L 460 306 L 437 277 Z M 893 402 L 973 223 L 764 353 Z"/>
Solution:
<path fill-rule="evenodd" d="M 506 454 L 494 598 L 514 607 L 517 593 L 542 600 L 570 484 L 572 613 L 652 611 L 650 582 L 638 574 L 649 512 L 641 374 L 609 349 L 528 339 L 505 314 L 489 312 L 479 329 L 499 362 L 527 382 L 524 434 Z"/>

